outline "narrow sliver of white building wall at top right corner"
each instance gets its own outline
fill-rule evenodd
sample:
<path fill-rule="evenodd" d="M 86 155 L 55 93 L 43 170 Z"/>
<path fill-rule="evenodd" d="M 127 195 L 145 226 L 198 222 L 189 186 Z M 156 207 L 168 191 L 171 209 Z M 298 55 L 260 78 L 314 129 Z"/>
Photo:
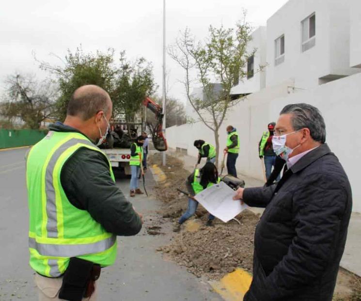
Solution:
<path fill-rule="evenodd" d="M 350 66 L 361 67 L 361 1 L 352 0 L 350 6 Z"/>

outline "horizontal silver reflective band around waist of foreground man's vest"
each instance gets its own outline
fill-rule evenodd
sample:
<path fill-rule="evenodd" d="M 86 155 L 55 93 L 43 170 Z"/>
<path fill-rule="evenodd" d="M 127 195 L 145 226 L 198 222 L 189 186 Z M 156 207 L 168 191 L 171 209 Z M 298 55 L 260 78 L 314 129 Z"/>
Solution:
<path fill-rule="evenodd" d="M 39 243 L 34 238 L 29 238 L 29 247 L 38 251 L 42 256 L 75 257 L 106 251 L 114 245 L 115 241 L 115 235 L 103 241 L 85 244 L 48 244 Z"/>

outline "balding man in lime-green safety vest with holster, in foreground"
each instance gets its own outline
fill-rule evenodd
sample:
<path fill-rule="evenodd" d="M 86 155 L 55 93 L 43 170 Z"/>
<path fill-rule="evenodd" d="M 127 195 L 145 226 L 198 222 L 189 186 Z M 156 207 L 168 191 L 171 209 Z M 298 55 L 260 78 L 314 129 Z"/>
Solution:
<path fill-rule="evenodd" d="M 95 300 L 100 269 L 114 263 L 117 235 L 136 235 L 141 214 L 116 186 L 100 145 L 112 113 L 109 94 L 82 86 L 66 119 L 26 156 L 30 266 L 39 300 Z"/>

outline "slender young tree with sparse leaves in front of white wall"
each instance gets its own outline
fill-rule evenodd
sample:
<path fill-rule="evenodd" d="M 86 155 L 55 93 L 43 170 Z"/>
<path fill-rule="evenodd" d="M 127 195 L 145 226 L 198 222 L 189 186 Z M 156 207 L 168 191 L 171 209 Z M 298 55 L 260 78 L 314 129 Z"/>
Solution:
<path fill-rule="evenodd" d="M 185 71 L 183 83 L 189 103 L 199 120 L 214 133 L 217 154 L 220 150 L 220 126 L 228 109 L 237 104 L 231 98 L 231 89 L 239 79 L 247 76 L 245 67 L 253 55 L 253 52 L 247 52 L 250 34 L 251 26 L 244 15 L 235 28 L 210 26 L 209 35 L 203 42 L 196 42 L 190 30 L 186 29 L 168 49 L 171 58 Z M 216 89 L 214 83 L 219 83 L 220 89 Z M 203 98 L 191 93 L 192 87 L 199 86 L 203 89 Z"/>

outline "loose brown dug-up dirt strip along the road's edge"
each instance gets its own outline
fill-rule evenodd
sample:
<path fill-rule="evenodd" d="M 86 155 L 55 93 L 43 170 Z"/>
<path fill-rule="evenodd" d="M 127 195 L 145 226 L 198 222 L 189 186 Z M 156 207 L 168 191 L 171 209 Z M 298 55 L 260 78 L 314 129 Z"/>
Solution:
<path fill-rule="evenodd" d="M 164 203 L 159 213 L 176 221 L 188 204 L 187 197 L 178 193 L 176 188 L 186 190 L 185 181 L 190 173 L 180 160 L 172 156 L 167 156 L 167 166 L 161 166 L 158 153 L 152 156 L 151 162 L 158 164 L 167 176 L 166 183 L 155 187 L 157 198 Z M 253 236 L 259 217 L 251 211 L 243 211 L 236 217 L 241 225 L 236 221 L 224 224 L 216 219 L 214 226 L 203 226 L 207 216 L 208 212 L 198 206 L 196 218 L 202 225 L 198 231 L 188 232 L 184 229 L 186 226 L 182 226 L 173 243 L 159 250 L 198 277 L 206 275 L 210 279 L 219 279 L 236 267 L 251 271 Z"/>

